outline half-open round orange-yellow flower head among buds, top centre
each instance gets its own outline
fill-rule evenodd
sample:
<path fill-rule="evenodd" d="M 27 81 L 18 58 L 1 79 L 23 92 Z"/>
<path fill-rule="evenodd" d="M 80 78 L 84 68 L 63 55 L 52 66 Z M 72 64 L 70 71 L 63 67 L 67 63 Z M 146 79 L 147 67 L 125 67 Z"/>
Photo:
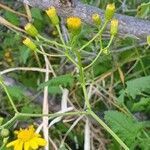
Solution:
<path fill-rule="evenodd" d="M 69 17 L 67 18 L 67 27 L 71 32 L 78 32 L 81 29 L 81 19 L 79 17 Z"/>

